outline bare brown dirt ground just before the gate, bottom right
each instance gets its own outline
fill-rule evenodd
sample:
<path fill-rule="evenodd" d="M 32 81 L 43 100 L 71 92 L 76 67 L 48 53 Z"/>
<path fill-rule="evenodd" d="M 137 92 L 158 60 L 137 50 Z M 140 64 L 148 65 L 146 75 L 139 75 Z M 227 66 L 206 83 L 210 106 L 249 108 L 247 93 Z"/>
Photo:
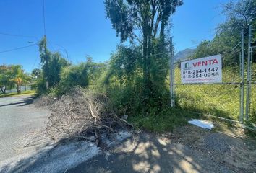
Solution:
<path fill-rule="evenodd" d="M 208 157 L 214 163 L 224 164 L 234 172 L 256 172 L 256 141 L 244 134 L 243 128 L 216 124 L 213 130 L 187 125 L 169 134 L 174 143 L 182 143 Z"/>

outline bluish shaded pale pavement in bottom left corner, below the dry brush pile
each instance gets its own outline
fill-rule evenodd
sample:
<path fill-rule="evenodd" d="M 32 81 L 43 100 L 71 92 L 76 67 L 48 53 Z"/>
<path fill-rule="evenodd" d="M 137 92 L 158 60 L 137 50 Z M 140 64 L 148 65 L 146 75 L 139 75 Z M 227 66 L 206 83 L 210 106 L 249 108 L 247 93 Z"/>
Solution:
<path fill-rule="evenodd" d="M 80 164 L 83 159 L 89 159 L 87 157 L 91 156 L 92 151 L 98 154 L 99 149 L 89 142 L 46 143 L 35 148 L 33 154 L 23 154 L 0 162 L 0 172 L 64 172 L 69 164 Z"/>

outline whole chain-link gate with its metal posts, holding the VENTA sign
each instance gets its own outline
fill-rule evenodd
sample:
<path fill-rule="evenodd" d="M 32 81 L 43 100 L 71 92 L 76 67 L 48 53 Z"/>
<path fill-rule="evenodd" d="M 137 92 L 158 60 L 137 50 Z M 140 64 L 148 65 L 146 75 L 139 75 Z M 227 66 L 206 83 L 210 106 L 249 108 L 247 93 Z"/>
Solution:
<path fill-rule="evenodd" d="M 249 36 L 247 47 L 244 46 L 246 44 L 244 35 Z M 183 72 L 185 74 L 181 74 L 182 62 L 175 62 L 174 58 L 171 58 L 171 107 L 176 106 L 190 112 L 221 117 L 240 123 L 244 123 L 244 120 L 256 123 L 256 63 L 253 61 L 256 40 L 252 38 L 252 26 L 249 26 L 248 32 L 241 31 L 241 41 L 232 50 L 221 53 L 222 81 L 215 81 L 216 83 L 187 83 L 188 81 L 197 81 L 197 77 L 195 79 L 192 77 L 197 74 L 186 74 L 185 72 Z M 248 53 L 245 53 L 246 49 L 248 49 Z M 174 55 L 172 54 L 171 57 Z M 232 64 L 230 63 L 231 57 Z M 186 64 L 189 66 L 187 60 L 183 63 L 184 68 L 182 69 L 187 68 Z M 208 76 L 206 69 L 202 71 L 203 74 L 201 72 L 198 74 L 200 81 L 201 77 Z M 186 72 L 191 73 L 191 71 Z M 210 72 L 211 77 L 217 74 L 214 71 L 216 74 L 212 76 L 213 73 Z M 187 76 L 190 78 L 189 80 L 187 80 Z M 182 83 L 182 77 L 183 80 L 187 80 L 185 83 Z"/>

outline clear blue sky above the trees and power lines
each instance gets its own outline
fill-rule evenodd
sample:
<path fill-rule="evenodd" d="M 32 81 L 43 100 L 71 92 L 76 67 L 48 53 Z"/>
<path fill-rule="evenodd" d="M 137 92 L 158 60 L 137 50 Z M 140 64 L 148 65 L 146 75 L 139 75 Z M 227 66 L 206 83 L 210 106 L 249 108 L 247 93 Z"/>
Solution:
<path fill-rule="evenodd" d="M 220 6 L 228 0 L 184 0 L 184 5 L 171 17 L 176 51 L 195 48 L 201 40 L 212 39 L 218 23 Z M 28 37 L 0 34 L 0 64 L 21 64 L 25 71 L 40 67 L 38 47 L 1 53 L 4 50 L 33 45 L 43 37 L 42 0 L 1 0 L 0 32 Z M 111 22 L 106 19 L 103 0 L 45 0 L 46 35 L 52 51 L 64 48 L 73 63 L 85 61 L 90 55 L 94 61 L 106 61 L 116 50 L 116 37 Z"/>

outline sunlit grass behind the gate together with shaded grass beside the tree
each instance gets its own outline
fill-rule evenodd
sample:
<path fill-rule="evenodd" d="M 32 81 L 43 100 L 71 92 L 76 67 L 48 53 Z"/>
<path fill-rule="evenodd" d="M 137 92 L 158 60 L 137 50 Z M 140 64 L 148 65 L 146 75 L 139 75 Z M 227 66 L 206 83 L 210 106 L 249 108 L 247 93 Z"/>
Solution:
<path fill-rule="evenodd" d="M 253 68 L 256 69 L 256 64 Z M 175 82 L 181 83 L 180 69 L 176 68 L 175 73 Z M 256 78 L 254 80 L 256 81 Z M 234 81 L 240 81 L 239 69 L 223 68 L 223 82 Z M 167 84 L 169 83 L 167 82 Z M 128 120 L 137 129 L 157 133 L 173 130 L 178 126 L 187 124 L 187 120 L 198 117 L 225 123 L 223 120 L 216 120 L 216 118 L 204 115 L 239 120 L 239 89 L 239 85 L 177 85 L 175 86 L 176 108 L 151 110 L 148 111 L 150 112 L 148 115 L 135 114 L 130 116 Z M 252 85 L 251 99 L 250 120 L 252 123 L 256 123 L 256 84 Z M 234 123 L 226 122 L 226 126 L 227 128 L 234 128 Z M 255 130 L 248 130 L 247 134 L 254 138 L 256 136 Z"/>

